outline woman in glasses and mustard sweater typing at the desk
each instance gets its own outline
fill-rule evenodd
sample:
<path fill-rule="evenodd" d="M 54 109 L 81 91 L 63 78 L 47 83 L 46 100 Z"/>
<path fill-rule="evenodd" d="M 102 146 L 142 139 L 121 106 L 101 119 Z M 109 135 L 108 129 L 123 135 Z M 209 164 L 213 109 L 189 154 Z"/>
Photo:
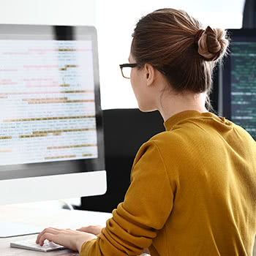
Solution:
<path fill-rule="evenodd" d="M 166 131 L 141 146 L 124 203 L 105 228 L 48 228 L 37 243 L 49 239 L 83 256 L 140 255 L 145 248 L 151 256 L 252 255 L 255 141 L 206 109 L 227 46 L 225 31 L 203 29 L 183 11 L 139 20 L 121 69 L 131 68 L 140 110 L 159 110 Z"/>

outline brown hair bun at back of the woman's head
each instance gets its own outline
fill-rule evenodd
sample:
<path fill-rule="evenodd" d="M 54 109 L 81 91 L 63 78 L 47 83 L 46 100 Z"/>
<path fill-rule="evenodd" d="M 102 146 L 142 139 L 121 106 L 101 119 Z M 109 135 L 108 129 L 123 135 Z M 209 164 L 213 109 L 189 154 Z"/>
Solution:
<path fill-rule="evenodd" d="M 225 30 L 211 29 L 210 26 L 205 31 L 197 31 L 195 37 L 198 39 L 198 53 L 206 61 L 215 61 L 219 56 L 223 56 L 229 44 Z"/>

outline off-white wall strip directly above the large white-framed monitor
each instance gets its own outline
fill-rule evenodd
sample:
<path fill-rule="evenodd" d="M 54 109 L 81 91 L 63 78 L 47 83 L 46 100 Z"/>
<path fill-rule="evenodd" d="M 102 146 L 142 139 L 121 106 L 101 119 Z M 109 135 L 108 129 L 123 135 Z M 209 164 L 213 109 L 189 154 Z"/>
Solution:
<path fill-rule="evenodd" d="M 0 23 L 95 25 L 95 1 L 0 0 Z"/>

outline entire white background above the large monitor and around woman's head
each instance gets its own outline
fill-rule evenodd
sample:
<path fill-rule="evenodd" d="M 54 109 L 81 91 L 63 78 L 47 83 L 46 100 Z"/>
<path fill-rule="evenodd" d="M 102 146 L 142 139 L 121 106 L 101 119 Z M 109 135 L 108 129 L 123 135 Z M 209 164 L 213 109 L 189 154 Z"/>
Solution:
<path fill-rule="evenodd" d="M 142 15 L 163 7 L 186 10 L 206 26 L 240 29 L 245 0 L 0 0 L 0 23 L 92 25 L 97 27 L 102 109 L 137 108 L 126 63 L 131 35 Z"/>

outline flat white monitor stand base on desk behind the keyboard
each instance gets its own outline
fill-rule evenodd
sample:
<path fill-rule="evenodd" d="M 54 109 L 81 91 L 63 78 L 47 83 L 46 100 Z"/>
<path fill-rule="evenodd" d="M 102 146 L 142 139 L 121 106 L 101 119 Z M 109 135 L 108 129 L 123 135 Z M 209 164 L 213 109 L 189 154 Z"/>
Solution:
<path fill-rule="evenodd" d="M 41 231 L 42 227 L 34 227 L 18 222 L 0 222 L 0 238 L 33 235 Z"/>

